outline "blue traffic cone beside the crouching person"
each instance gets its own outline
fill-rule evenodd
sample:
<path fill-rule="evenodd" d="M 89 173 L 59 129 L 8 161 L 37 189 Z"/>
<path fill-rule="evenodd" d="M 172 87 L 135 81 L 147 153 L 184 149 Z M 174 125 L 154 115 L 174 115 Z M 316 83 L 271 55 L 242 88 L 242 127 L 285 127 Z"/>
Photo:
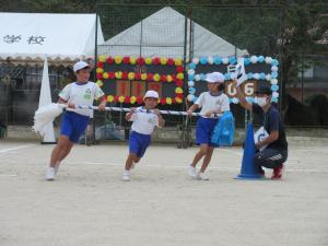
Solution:
<path fill-rule="evenodd" d="M 256 152 L 254 142 L 253 124 L 247 125 L 246 140 L 244 144 L 243 163 L 241 174 L 236 177 L 238 179 L 257 179 L 262 178 L 258 174 L 258 168 L 254 164 L 254 154 Z"/>

